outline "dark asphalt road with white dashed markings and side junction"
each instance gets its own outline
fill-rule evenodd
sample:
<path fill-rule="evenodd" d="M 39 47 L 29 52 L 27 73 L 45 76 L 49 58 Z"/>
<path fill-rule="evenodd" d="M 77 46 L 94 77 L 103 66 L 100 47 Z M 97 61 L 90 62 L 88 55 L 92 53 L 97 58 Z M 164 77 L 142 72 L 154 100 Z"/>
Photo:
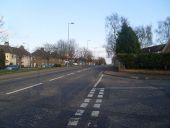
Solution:
<path fill-rule="evenodd" d="M 0 128 L 170 128 L 170 80 L 108 66 L 0 81 Z"/>

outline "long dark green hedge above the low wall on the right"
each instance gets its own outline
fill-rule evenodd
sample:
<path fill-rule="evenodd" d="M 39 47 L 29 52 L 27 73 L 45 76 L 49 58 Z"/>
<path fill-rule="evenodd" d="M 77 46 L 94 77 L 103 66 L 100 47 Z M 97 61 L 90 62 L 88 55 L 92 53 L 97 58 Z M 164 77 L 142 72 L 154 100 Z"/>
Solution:
<path fill-rule="evenodd" d="M 170 53 L 118 54 L 117 57 L 127 69 L 170 70 Z"/>

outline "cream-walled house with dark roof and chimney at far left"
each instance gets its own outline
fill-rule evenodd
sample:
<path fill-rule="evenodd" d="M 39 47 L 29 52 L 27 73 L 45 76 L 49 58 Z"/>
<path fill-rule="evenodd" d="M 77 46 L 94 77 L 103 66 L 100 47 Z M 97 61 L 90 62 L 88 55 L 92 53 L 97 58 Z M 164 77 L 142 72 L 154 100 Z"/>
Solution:
<path fill-rule="evenodd" d="M 30 67 L 30 53 L 23 46 L 16 48 L 11 47 L 9 42 L 0 45 L 0 48 L 5 52 L 5 65 L 20 65 L 22 67 Z"/>

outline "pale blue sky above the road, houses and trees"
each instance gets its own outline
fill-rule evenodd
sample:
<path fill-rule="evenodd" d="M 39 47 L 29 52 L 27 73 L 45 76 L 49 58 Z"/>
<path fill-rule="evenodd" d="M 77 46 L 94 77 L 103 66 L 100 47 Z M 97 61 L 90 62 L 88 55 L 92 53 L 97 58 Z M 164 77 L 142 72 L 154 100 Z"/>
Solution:
<path fill-rule="evenodd" d="M 151 24 L 156 29 L 170 16 L 170 0 L 0 0 L 10 45 L 24 45 L 30 52 L 67 40 L 68 23 L 74 22 L 70 38 L 106 58 L 105 19 L 112 13 L 126 17 L 132 27 Z"/>

